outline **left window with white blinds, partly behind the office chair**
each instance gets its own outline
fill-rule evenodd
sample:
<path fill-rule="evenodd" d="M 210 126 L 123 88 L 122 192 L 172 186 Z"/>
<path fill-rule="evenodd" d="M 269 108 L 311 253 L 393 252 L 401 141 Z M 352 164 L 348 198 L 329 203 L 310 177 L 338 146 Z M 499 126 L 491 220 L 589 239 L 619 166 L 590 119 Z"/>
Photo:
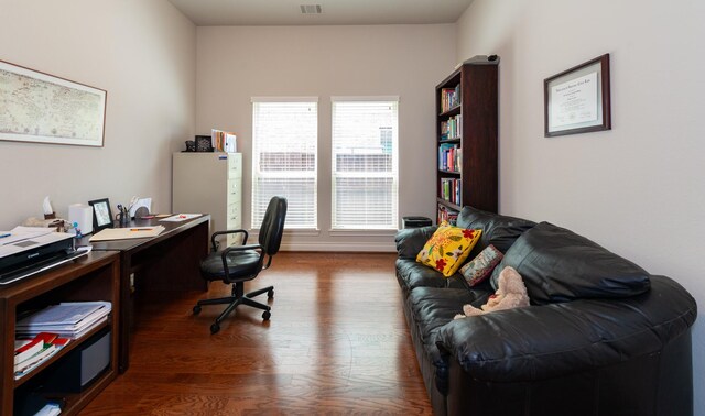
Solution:
<path fill-rule="evenodd" d="M 288 199 L 286 228 L 317 228 L 317 98 L 252 98 L 252 228 L 269 200 Z"/>

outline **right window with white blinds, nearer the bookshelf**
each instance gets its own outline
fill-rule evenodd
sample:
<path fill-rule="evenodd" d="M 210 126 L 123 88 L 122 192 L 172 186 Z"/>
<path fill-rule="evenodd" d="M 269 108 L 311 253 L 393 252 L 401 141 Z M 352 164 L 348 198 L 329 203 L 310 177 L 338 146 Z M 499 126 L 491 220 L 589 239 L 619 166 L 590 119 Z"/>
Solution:
<path fill-rule="evenodd" d="M 398 228 L 398 98 L 333 98 L 333 229 Z"/>

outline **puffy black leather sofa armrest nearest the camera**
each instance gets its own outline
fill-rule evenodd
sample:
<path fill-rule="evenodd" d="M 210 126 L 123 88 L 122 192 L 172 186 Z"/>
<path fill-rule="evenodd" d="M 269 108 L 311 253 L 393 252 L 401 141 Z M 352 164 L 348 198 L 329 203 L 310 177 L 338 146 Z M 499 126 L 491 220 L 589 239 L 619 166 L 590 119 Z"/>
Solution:
<path fill-rule="evenodd" d="M 456 319 L 438 330 L 445 360 L 473 379 L 521 382 L 555 377 L 657 353 L 695 321 L 695 299 L 651 276 L 648 293 L 579 299 Z"/>

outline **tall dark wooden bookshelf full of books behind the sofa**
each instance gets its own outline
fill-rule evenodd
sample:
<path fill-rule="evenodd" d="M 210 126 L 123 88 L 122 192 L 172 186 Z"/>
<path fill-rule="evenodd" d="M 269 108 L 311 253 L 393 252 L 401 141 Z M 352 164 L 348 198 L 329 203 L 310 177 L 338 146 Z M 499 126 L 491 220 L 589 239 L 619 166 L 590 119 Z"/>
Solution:
<path fill-rule="evenodd" d="M 476 56 L 436 86 L 436 221 L 498 209 L 499 59 Z"/>

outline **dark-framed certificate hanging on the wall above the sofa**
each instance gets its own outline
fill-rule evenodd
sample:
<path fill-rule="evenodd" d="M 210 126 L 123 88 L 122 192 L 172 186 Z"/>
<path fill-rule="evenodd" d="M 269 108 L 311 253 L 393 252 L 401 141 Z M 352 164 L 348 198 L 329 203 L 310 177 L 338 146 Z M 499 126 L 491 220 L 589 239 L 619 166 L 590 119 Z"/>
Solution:
<path fill-rule="evenodd" d="M 609 54 L 543 80 L 544 136 L 611 130 Z"/>

